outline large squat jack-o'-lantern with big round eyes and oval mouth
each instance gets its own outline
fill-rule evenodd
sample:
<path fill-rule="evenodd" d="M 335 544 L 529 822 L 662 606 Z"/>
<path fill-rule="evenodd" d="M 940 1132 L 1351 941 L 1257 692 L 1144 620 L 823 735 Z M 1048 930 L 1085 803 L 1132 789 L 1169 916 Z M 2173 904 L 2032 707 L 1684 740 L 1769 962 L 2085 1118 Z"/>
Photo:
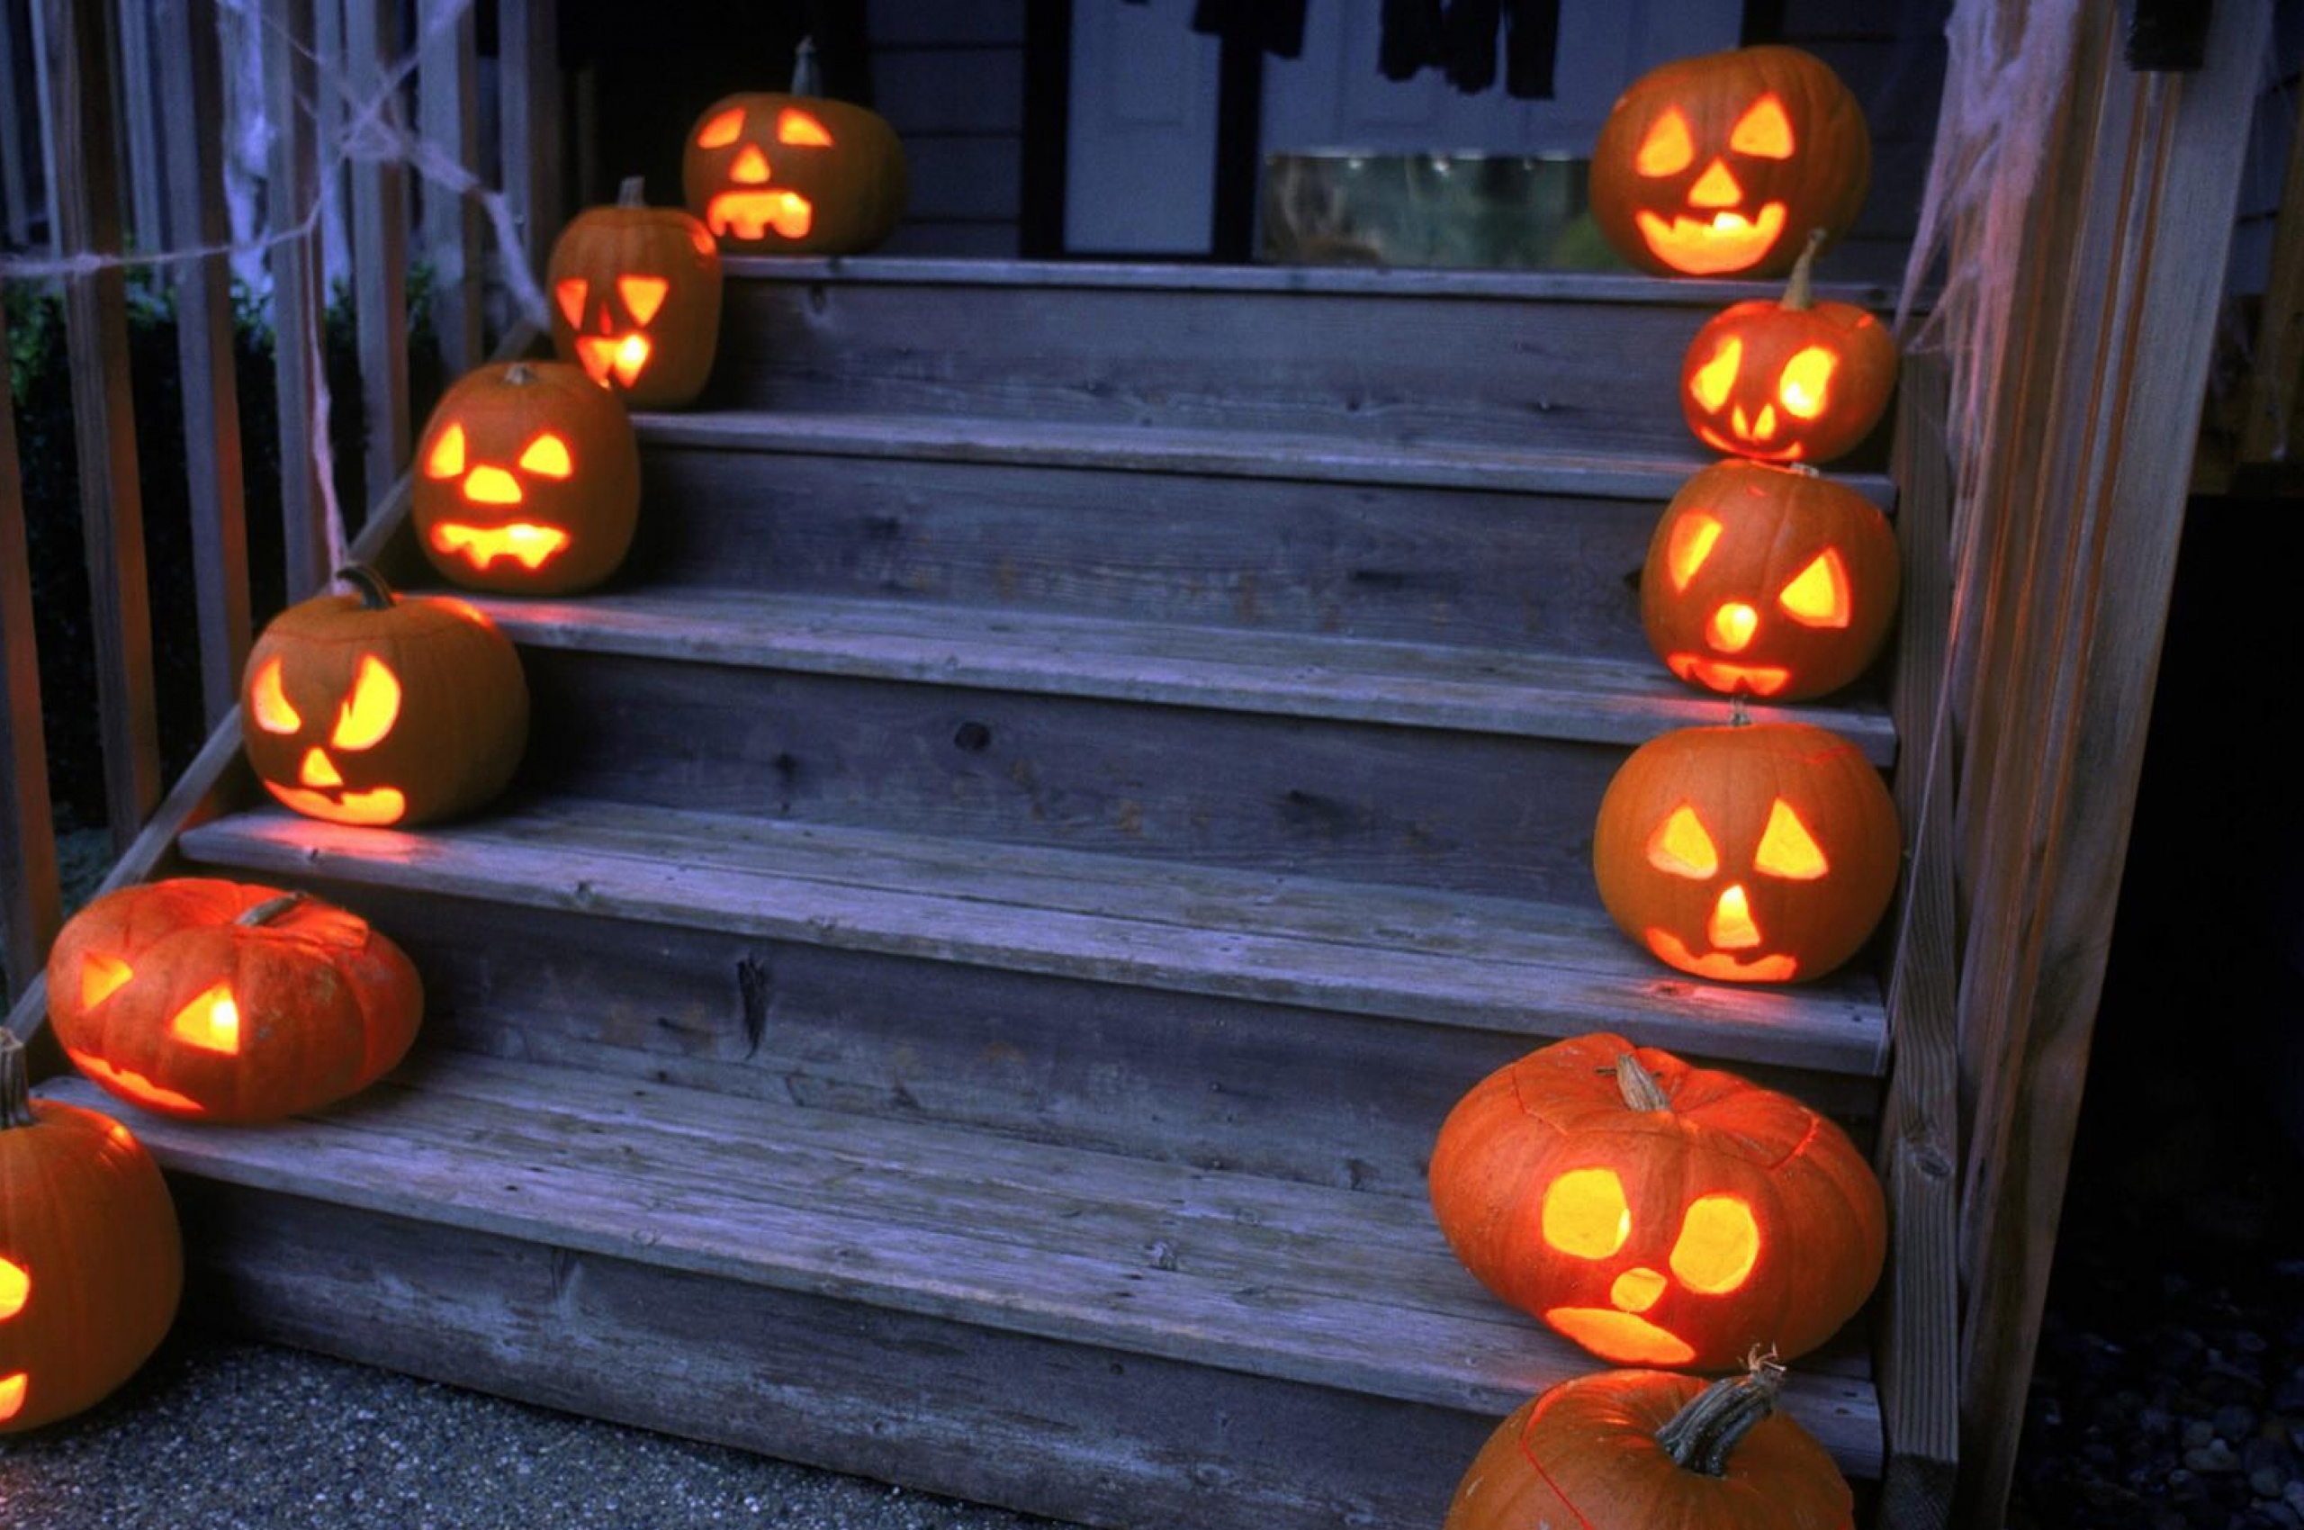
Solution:
<path fill-rule="evenodd" d="M 1431 1198 L 1481 1286 L 1617 1364 L 1790 1359 L 1887 1258 L 1880 1182 L 1839 1127 L 1613 1035 L 1532 1051 L 1456 1101 Z"/>

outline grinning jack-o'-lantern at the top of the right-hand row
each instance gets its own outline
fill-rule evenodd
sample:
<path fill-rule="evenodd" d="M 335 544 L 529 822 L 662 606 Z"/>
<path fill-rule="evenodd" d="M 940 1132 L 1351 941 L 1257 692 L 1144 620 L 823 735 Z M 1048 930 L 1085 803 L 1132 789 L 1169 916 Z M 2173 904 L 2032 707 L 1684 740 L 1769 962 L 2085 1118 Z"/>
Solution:
<path fill-rule="evenodd" d="M 1781 277 L 1871 187 L 1871 129 L 1841 76 L 1779 44 L 1682 58 L 1617 97 L 1592 145 L 1592 221 L 1659 277 Z"/>

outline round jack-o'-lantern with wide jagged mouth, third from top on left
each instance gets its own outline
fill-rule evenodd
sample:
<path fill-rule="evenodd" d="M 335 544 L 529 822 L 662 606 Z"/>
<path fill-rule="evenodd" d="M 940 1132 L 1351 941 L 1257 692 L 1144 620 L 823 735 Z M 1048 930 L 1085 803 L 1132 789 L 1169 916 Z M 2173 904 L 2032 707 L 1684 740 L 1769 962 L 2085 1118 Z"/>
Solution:
<path fill-rule="evenodd" d="M 641 440 L 581 366 L 482 366 L 433 408 L 408 514 L 449 583 L 590 590 L 624 562 L 641 525 Z"/>

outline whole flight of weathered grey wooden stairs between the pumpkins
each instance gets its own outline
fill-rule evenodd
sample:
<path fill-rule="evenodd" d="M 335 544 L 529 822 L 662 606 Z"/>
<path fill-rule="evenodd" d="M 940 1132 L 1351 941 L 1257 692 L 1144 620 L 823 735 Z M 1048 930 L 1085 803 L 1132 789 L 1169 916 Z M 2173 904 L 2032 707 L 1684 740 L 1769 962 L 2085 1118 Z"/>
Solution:
<path fill-rule="evenodd" d="M 1634 576 L 1700 461 L 1687 339 L 1760 288 L 730 277 L 705 408 L 641 419 L 627 571 L 484 601 L 535 691 L 511 795 L 401 834 L 240 779 L 182 834 L 429 986 L 410 1065 L 320 1118 L 127 1113 L 194 1300 L 1090 1523 L 1438 1525 L 1597 1369 L 1433 1226 L 1465 1088 L 1615 1028 L 1880 1111 L 1875 972 L 1691 982 L 1590 876 L 1627 749 L 1726 712 Z M 1790 712 L 1894 765 L 1878 698 Z M 1880 1475 L 1862 1332 L 1790 1406 Z"/>

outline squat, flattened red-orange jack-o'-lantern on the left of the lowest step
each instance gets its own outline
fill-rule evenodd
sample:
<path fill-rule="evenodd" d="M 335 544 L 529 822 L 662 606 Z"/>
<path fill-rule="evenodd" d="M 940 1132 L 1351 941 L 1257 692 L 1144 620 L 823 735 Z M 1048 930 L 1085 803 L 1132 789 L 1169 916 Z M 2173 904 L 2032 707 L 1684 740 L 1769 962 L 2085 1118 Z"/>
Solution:
<path fill-rule="evenodd" d="M 424 984 L 369 922 L 302 892 L 175 878 L 108 892 L 48 952 L 74 1067 L 164 1115 L 251 1122 L 369 1088 Z"/>

